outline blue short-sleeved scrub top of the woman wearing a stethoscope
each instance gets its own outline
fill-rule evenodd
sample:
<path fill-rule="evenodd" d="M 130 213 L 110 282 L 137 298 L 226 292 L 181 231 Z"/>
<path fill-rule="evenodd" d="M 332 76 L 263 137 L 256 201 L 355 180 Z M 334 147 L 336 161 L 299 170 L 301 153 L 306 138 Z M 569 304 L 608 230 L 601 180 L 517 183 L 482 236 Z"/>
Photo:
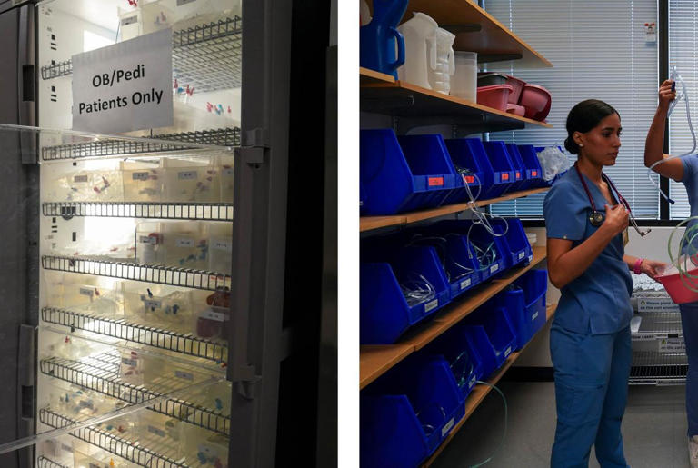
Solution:
<path fill-rule="evenodd" d="M 599 187 L 582 176 L 596 209 L 605 219 L 608 202 Z M 573 167 L 545 196 L 543 215 L 547 236 L 573 241 L 573 248 L 582 244 L 598 229 L 589 222 L 590 214 L 589 197 Z M 623 262 L 624 251 L 623 234 L 618 234 L 582 275 L 563 287 L 554 324 L 579 334 L 613 334 L 630 324 L 633 279 Z"/>

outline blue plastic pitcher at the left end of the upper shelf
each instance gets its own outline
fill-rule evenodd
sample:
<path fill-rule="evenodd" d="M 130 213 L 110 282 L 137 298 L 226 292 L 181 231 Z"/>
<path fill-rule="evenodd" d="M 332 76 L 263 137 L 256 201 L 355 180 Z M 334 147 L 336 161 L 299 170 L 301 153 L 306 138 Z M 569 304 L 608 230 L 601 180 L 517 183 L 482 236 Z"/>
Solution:
<path fill-rule="evenodd" d="M 359 29 L 361 66 L 397 78 L 397 67 L 404 64 L 404 38 L 396 26 L 404 15 L 407 1 L 374 0 L 371 23 Z"/>

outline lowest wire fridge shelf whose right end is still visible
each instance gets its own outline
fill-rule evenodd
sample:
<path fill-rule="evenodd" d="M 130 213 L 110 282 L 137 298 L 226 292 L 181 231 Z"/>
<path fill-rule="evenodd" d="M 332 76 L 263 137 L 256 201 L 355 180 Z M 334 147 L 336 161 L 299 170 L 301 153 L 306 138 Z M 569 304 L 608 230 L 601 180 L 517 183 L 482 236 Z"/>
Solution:
<path fill-rule="evenodd" d="M 158 379 L 157 383 L 148 383 L 148 388 L 145 388 L 144 385 L 122 382 L 118 372 L 108 372 L 104 368 L 86 363 L 85 360 L 78 362 L 59 357 L 42 359 L 40 367 L 45 375 L 75 383 L 126 403 L 143 403 L 191 384 L 176 382 L 176 379 Z M 214 433 L 230 434 L 229 416 L 198 404 L 171 398 L 162 403 L 155 403 L 148 407 L 148 410 L 194 424 Z"/>

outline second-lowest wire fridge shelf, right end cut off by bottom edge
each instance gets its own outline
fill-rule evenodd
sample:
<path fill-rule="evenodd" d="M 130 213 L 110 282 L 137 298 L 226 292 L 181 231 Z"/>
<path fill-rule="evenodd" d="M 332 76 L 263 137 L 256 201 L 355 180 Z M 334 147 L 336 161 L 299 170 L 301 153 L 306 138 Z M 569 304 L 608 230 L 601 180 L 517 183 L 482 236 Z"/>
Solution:
<path fill-rule="evenodd" d="M 39 410 L 39 420 L 55 429 L 78 422 L 63 414 L 46 409 Z M 140 444 L 135 444 L 132 441 L 92 426 L 76 429 L 70 434 L 81 441 L 91 443 L 139 466 L 147 468 L 186 468 L 188 466 L 163 454 L 155 453 Z"/>

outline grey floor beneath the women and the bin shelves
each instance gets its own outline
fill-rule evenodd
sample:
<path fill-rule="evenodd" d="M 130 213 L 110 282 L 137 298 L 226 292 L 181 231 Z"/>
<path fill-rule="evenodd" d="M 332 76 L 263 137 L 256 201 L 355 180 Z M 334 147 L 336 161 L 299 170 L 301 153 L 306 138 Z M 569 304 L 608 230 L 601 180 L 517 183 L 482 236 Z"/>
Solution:
<path fill-rule="evenodd" d="M 502 382 L 508 422 L 503 447 L 487 468 L 548 467 L 555 431 L 553 383 Z M 687 468 L 685 387 L 630 387 L 623 418 L 625 458 L 633 468 Z M 502 440 L 504 404 L 490 392 L 434 463 L 470 467 L 491 456 Z M 593 455 L 589 466 L 599 464 Z"/>

